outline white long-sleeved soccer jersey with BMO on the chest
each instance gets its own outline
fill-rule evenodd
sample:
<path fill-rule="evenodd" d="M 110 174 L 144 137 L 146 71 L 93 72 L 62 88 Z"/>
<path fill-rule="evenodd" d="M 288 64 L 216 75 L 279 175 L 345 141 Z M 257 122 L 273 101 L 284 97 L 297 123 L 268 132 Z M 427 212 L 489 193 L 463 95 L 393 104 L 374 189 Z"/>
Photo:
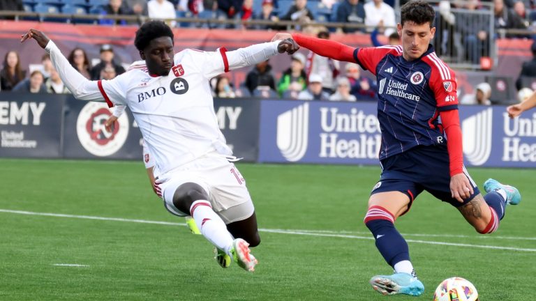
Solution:
<path fill-rule="evenodd" d="M 151 76 L 144 61 L 111 80 L 90 82 L 76 72 L 50 41 L 45 49 L 69 90 L 82 100 L 126 105 L 142 131 L 159 173 L 167 173 L 206 153 L 232 152 L 214 112 L 209 79 L 277 54 L 278 41 L 227 52 L 185 49 L 174 55 L 167 76 Z"/>

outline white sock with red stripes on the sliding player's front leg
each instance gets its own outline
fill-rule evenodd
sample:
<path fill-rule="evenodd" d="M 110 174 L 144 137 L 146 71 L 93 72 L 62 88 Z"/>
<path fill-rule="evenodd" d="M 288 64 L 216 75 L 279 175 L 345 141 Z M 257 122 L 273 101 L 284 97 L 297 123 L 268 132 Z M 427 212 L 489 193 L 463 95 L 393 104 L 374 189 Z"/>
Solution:
<path fill-rule="evenodd" d="M 207 238 L 212 245 L 229 254 L 233 238 L 231 233 L 227 231 L 227 226 L 225 226 L 221 217 L 212 210 L 209 201 L 199 200 L 193 202 L 190 207 L 190 213 L 202 236 Z"/>

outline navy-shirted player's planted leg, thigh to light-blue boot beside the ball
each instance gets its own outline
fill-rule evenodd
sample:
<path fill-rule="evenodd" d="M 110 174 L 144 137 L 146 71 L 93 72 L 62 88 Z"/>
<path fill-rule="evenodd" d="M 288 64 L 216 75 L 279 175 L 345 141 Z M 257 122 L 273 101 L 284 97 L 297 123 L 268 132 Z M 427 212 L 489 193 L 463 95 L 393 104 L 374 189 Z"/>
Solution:
<path fill-rule="evenodd" d="M 402 192 L 379 192 L 368 199 L 365 224 L 372 232 L 375 245 L 394 270 L 394 275 L 371 278 L 373 288 L 384 295 L 421 295 L 424 285 L 415 276 L 408 243 L 394 227 L 394 220 L 410 206 L 410 197 Z"/>

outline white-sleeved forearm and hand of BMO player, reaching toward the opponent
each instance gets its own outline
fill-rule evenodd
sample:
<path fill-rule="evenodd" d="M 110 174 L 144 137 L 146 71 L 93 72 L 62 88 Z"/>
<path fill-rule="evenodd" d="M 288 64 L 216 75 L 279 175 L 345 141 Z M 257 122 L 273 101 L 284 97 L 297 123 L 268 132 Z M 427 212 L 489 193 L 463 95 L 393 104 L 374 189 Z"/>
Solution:
<path fill-rule="evenodd" d="M 269 43 L 255 44 L 227 52 L 229 70 L 234 70 L 248 65 L 255 65 L 266 61 L 276 54 L 293 54 L 299 49 L 298 44 L 292 38 L 276 40 Z"/>

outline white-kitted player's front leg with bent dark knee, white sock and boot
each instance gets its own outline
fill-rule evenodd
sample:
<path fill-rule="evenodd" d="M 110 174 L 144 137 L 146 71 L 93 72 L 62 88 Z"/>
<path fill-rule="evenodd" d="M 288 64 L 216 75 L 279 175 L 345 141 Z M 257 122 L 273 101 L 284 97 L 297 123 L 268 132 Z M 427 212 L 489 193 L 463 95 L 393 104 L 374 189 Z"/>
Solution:
<path fill-rule="evenodd" d="M 253 272 L 256 260 L 249 254 L 248 243 L 232 237 L 221 217 L 212 210 L 208 199 L 203 187 L 196 183 L 184 183 L 175 190 L 173 205 L 182 212 L 191 214 L 202 236 L 212 245 L 232 256 L 241 268 Z"/>

